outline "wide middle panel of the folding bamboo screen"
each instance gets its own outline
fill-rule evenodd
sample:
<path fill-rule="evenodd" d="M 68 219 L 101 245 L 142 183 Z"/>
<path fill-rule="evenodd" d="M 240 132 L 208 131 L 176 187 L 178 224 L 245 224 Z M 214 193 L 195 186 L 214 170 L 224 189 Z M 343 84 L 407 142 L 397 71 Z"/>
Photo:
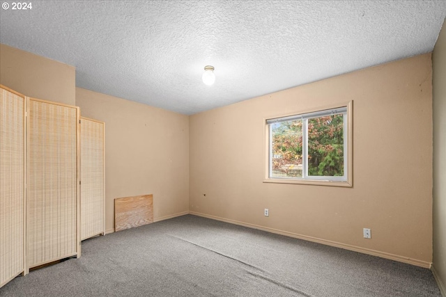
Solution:
<path fill-rule="evenodd" d="M 28 267 L 79 255 L 79 109 L 29 99 L 26 246 Z"/>

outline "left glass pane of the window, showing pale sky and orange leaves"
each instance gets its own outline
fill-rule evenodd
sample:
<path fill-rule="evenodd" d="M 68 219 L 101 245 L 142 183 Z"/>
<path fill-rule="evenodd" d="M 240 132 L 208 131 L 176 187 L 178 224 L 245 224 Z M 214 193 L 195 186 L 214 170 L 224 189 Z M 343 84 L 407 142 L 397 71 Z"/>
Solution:
<path fill-rule="evenodd" d="M 271 125 L 271 177 L 302 177 L 302 120 Z"/>

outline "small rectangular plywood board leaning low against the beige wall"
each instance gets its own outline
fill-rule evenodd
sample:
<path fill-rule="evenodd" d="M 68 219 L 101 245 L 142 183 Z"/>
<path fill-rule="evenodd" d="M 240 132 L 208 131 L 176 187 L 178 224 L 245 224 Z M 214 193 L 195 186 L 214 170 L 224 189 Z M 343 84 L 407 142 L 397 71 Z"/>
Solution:
<path fill-rule="evenodd" d="M 114 229 L 121 231 L 153 223 L 153 195 L 114 200 Z"/>

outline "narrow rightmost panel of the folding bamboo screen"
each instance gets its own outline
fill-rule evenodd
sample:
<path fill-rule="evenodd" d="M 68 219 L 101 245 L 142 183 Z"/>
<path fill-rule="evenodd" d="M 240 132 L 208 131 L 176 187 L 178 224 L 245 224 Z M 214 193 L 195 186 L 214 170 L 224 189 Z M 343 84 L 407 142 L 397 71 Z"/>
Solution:
<path fill-rule="evenodd" d="M 105 232 L 104 122 L 81 118 L 81 239 Z"/>

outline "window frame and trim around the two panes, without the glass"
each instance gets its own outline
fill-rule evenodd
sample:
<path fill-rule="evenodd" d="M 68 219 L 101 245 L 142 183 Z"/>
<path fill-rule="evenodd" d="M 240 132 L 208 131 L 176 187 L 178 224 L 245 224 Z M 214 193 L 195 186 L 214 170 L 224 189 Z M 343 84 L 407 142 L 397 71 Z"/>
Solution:
<path fill-rule="evenodd" d="M 287 115 L 275 116 L 263 119 L 265 125 L 265 157 L 266 157 L 266 175 L 263 182 L 272 182 L 278 184 L 316 184 L 321 186 L 353 186 L 353 102 L 337 104 L 332 106 L 324 106 L 304 112 L 296 112 Z M 344 120 L 344 176 L 313 176 L 308 175 L 308 129 L 307 122 L 311 118 L 318 118 L 323 115 L 343 114 Z M 284 122 L 287 120 L 302 119 L 302 177 L 272 177 L 272 125 L 275 122 Z"/>

